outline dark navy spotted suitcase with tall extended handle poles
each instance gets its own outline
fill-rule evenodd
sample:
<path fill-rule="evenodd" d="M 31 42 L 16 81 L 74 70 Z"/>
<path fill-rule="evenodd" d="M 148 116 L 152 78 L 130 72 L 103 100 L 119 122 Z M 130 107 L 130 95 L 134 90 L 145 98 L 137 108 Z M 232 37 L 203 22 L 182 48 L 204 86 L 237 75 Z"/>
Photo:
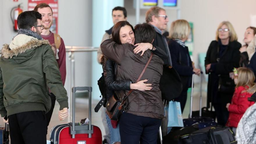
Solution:
<path fill-rule="evenodd" d="M 204 127 L 215 126 L 215 118 L 210 117 L 202 117 L 202 75 L 201 75 L 201 82 L 200 82 L 200 111 L 199 117 L 192 117 L 192 105 L 193 105 L 193 83 L 194 83 L 194 75 L 192 75 L 192 87 L 191 87 L 191 102 L 190 102 L 190 114 L 189 118 L 183 119 L 184 126 L 191 126 L 195 123 L 199 123 L 198 128 L 202 129 Z"/>

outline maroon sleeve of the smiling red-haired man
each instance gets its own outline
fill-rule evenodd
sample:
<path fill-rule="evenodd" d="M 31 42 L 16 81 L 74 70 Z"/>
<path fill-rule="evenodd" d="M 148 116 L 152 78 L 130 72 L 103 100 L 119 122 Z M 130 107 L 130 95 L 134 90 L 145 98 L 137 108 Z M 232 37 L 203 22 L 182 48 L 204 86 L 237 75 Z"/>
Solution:
<path fill-rule="evenodd" d="M 66 80 L 66 48 L 62 38 L 61 38 L 61 45 L 59 47 L 58 56 L 59 56 L 59 59 L 57 59 L 57 62 L 61 72 L 61 80 L 64 86 L 65 80 Z"/>

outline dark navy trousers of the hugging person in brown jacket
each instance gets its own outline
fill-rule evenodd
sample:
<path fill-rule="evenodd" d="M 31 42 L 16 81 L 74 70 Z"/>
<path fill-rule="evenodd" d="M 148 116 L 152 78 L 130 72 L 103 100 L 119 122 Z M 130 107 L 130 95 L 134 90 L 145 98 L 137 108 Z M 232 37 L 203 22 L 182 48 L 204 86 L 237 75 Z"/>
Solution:
<path fill-rule="evenodd" d="M 161 119 L 122 113 L 119 131 L 122 144 L 156 144 Z"/>

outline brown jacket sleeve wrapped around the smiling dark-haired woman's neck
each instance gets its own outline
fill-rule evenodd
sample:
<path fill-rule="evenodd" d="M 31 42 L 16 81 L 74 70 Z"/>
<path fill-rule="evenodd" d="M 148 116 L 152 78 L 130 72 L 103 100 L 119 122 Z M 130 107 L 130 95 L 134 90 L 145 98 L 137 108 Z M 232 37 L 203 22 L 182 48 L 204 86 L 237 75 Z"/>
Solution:
<path fill-rule="evenodd" d="M 129 48 L 132 48 L 131 44 L 125 43 L 118 45 L 112 39 L 105 40 L 100 45 L 103 55 L 116 63 L 121 63 L 122 59 L 125 57 Z"/>

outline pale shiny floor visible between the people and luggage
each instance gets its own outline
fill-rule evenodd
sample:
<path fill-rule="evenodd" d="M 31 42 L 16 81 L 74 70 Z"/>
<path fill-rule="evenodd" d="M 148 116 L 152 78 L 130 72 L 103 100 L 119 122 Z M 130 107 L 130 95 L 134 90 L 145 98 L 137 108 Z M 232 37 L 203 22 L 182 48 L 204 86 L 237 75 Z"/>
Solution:
<path fill-rule="evenodd" d="M 202 91 L 202 107 L 206 106 L 206 87 L 207 83 L 203 83 L 203 91 Z M 194 86 L 194 94 L 193 94 L 193 111 L 199 110 L 199 99 L 200 99 L 200 92 L 199 92 L 200 85 L 195 84 Z M 92 100 L 92 124 L 98 126 L 102 131 L 102 136 L 105 135 L 104 127 L 102 124 L 102 109 L 99 110 L 98 113 L 94 112 L 94 107 L 98 103 L 98 100 Z M 71 122 L 71 117 L 67 118 L 66 120 L 59 121 L 58 120 L 58 110 L 59 110 L 59 104 L 56 102 L 54 107 L 53 116 L 51 118 L 51 122 L 48 126 L 48 133 L 47 133 L 47 140 L 49 140 L 50 131 L 51 128 L 58 124 L 66 124 L 68 122 Z M 188 99 L 187 103 L 184 109 L 183 118 L 188 118 L 190 111 L 190 93 L 188 93 Z M 76 100 L 76 112 L 75 112 L 75 121 L 80 122 L 83 118 L 88 118 L 88 99 L 85 98 L 78 98 Z M 70 115 L 71 116 L 71 115 Z M 0 121 L 0 127 L 3 127 L 3 121 Z"/>

